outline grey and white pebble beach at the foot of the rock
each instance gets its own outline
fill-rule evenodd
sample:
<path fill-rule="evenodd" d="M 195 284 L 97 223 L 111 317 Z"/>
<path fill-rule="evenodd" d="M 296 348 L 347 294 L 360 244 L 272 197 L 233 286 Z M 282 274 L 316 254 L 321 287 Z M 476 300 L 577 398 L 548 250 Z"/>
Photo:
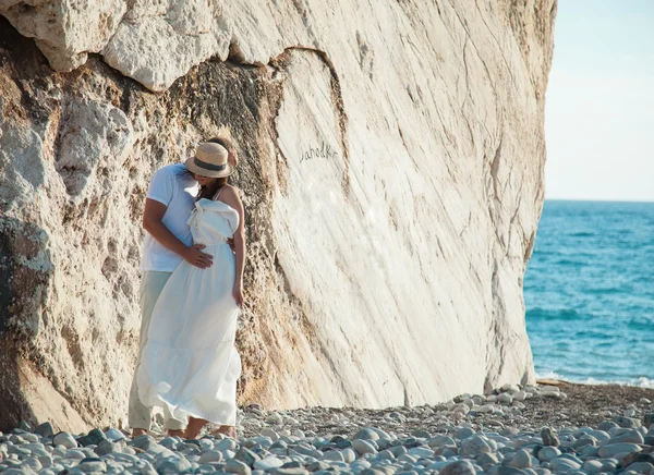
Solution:
<path fill-rule="evenodd" d="M 11 474 L 654 475 L 654 390 L 541 381 L 419 407 L 239 412 L 239 438 L 166 437 L 156 427 L 0 434 Z"/>

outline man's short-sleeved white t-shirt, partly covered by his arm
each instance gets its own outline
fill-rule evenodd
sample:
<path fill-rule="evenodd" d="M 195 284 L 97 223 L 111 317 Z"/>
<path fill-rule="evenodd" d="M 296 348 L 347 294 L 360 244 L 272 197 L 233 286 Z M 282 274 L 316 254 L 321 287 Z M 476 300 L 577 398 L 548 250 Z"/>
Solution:
<path fill-rule="evenodd" d="M 198 190 L 197 182 L 186 173 L 186 167 L 174 163 L 155 172 L 146 195 L 167 206 L 161 222 L 187 246 L 193 243 L 193 238 L 186 221 L 195 206 Z M 181 261 L 182 256 L 160 244 L 150 233 L 145 233 L 141 270 L 172 272 Z"/>

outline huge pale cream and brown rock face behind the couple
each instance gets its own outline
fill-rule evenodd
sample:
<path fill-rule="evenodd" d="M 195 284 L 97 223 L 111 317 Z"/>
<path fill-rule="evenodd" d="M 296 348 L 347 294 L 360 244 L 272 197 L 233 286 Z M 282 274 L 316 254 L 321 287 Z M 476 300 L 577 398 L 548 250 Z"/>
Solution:
<path fill-rule="evenodd" d="M 90 3 L 0 0 L 0 429 L 124 424 L 145 190 L 217 133 L 247 211 L 242 403 L 533 381 L 555 0 Z"/>

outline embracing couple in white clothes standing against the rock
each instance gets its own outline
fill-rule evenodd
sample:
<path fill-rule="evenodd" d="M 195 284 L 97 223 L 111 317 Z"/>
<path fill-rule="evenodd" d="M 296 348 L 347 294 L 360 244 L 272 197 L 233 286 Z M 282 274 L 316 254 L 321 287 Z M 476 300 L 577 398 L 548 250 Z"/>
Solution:
<path fill-rule="evenodd" d="M 237 166 L 222 138 L 158 170 L 149 184 L 143 228 L 141 344 L 130 391 L 132 436 L 164 411 L 171 436 L 193 439 L 213 423 L 237 436 L 234 346 L 243 306 L 243 205 L 229 175 Z"/>

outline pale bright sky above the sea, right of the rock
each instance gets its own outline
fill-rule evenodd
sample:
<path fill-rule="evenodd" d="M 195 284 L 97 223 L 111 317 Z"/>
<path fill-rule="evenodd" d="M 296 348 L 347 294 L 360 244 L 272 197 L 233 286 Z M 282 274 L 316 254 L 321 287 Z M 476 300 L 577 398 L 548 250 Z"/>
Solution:
<path fill-rule="evenodd" d="M 559 0 L 549 199 L 654 202 L 654 0 Z"/>

